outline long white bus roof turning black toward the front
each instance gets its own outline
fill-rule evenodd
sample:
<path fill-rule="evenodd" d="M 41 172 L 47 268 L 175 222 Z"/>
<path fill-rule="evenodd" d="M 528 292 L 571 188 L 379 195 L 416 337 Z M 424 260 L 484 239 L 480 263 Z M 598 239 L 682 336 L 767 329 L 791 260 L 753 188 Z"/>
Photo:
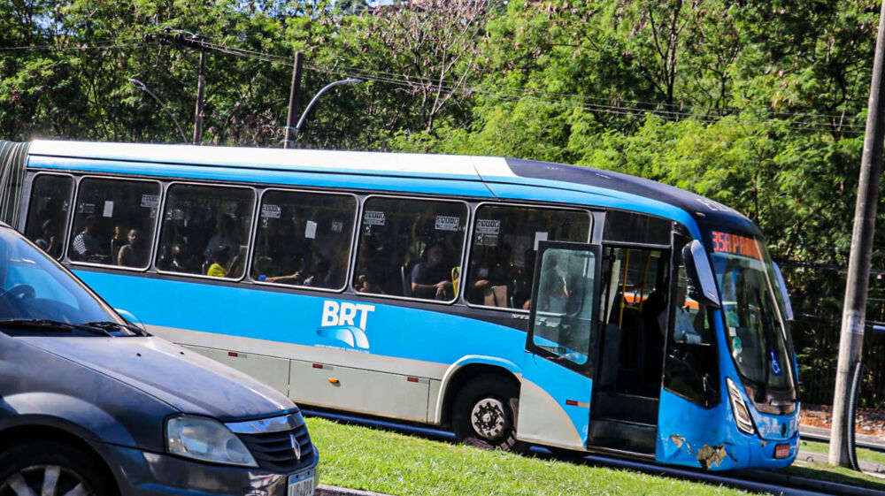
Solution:
<path fill-rule="evenodd" d="M 457 156 L 314 149 L 257 149 L 88 141 L 33 141 L 29 156 L 101 159 L 142 164 L 215 166 L 277 172 L 339 172 L 421 179 L 481 181 L 620 193 L 673 205 L 699 225 L 761 236 L 747 217 L 718 202 L 650 179 L 590 167 L 497 156 Z"/>

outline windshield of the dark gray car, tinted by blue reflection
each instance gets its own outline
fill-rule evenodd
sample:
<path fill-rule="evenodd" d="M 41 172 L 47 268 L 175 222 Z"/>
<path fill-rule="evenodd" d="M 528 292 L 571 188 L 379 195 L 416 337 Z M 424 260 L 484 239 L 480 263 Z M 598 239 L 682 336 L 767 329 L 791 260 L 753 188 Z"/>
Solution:
<path fill-rule="evenodd" d="M 132 333 L 116 312 L 40 248 L 0 227 L 0 326 L 52 330 L 65 324 Z"/>

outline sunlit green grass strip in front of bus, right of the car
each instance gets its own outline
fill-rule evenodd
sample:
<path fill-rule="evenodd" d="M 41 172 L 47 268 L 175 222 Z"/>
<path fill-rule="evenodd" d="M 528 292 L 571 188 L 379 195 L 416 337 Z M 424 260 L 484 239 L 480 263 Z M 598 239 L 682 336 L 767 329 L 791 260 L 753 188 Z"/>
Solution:
<path fill-rule="evenodd" d="M 736 489 L 528 456 L 308 418 L 319 481 L 399 496 L 748 494 Z"/>

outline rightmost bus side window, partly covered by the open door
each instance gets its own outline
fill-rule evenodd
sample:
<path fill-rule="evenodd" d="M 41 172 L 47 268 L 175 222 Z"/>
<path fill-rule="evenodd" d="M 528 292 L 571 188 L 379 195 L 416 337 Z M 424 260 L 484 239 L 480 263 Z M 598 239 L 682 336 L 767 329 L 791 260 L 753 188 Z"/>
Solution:
<path fill-rule="evenodd" d="M 483 205 L 476 210 L 466 300 L 473 305 L 528 309 L 538 242 L 589 240 L 581 210 Z"/>

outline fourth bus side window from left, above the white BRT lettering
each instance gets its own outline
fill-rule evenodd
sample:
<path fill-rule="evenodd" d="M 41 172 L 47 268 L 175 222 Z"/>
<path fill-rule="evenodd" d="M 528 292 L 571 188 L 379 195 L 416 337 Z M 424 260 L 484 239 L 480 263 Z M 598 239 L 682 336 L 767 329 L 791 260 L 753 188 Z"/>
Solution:
<path fill-rule="evenodd" d="M 268 191 L 258 215 L 252 279 L 335 290 L 345 286 L 356 197 Z"/>

